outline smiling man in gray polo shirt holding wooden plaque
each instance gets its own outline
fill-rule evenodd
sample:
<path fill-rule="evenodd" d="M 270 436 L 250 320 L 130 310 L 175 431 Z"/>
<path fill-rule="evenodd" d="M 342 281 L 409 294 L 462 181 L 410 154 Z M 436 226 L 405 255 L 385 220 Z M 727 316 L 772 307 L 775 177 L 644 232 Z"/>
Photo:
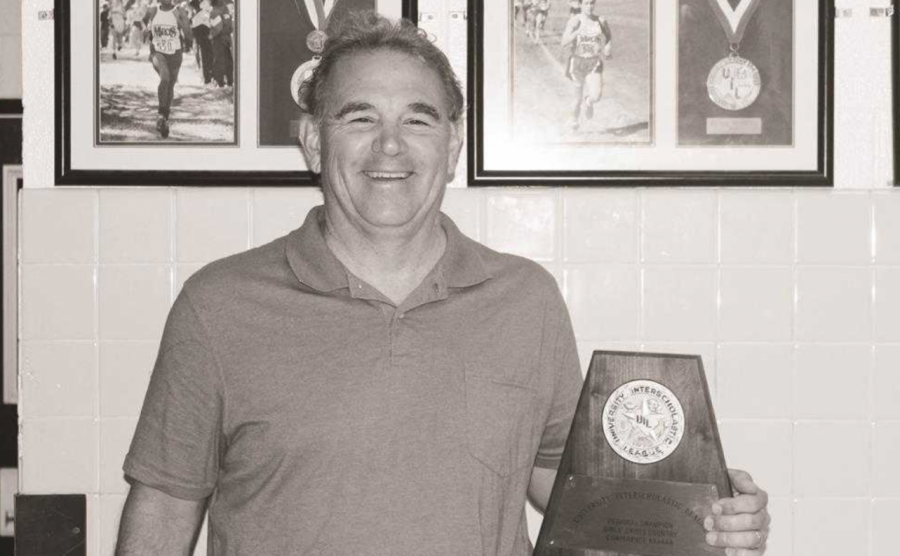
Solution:
<path fill-rule="evenodd" d="M 325 204 L 192 276 L 126 458 L 119 556 L 531 553 L 581 387 L 553 278 L 440 213 L 462 144 L 446 57 L 375 14 L 301 96 Z M 765 493 L 715 540 L 764 541 Z M 741 512 L 738 515 L 729 515 Z M 753 551 L 747 554 L 758 554 Z"/>

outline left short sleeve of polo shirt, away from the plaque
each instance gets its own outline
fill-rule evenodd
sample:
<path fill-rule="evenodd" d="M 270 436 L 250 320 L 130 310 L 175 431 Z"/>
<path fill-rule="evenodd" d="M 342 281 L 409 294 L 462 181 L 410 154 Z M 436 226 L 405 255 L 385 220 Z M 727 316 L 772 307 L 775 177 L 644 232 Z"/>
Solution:
<path fill-rule="evenodd" d="M 183 499 L 216 485 L 224 392 L 206 331 L 186 290 L 169 312 L 125 474 Z"/>

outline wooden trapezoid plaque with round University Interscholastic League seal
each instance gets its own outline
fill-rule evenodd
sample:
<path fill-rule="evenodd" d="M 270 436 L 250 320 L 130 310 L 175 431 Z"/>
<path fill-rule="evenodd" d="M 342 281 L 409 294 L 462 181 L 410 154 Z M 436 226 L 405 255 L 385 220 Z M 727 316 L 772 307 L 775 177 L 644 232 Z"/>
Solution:
<path fill-rule="evenodd" d="M 534 554 L 724 555 L 703 528 L 724 496 L 700 357 L 595 351 Z"/>

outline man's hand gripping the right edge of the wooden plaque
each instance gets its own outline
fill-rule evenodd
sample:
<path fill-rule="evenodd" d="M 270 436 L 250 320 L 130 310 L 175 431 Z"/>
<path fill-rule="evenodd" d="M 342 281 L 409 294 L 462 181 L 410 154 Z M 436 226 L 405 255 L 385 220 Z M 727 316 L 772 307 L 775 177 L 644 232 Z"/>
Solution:
<path fill-rule="evenodd" d="M 769 538 L 769 495 L 746 471 L 729 469 L 728 476 L 735 495 L 713 504 L 713 515 L 703 523 L 706 542 L 726 547 L 728 556 L 761 556 Z"/>

